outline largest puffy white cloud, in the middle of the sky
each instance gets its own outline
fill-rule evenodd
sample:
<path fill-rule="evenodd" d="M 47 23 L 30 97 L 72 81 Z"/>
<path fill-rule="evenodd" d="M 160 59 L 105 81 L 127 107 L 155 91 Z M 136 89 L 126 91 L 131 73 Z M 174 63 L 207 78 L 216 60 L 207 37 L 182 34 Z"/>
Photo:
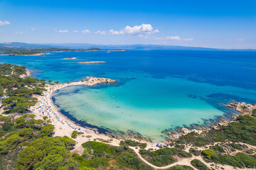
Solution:
<path fill-rule="evenodd" d="M 141 26 L 126 26 L 122 30 L 110 30 L 110 34 L 112 35 L 119 35 L 119 34 L 127 34 L 127 35 L 146 35 L 152 33 L 159 33 L 159 30 L 155 29 L 150 24 L 143 23 Z"/>

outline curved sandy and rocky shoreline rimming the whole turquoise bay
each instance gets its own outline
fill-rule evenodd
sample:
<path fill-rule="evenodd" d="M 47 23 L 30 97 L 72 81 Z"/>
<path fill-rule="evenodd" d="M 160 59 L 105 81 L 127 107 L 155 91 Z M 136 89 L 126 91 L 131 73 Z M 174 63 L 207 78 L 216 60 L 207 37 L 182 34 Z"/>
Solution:
<path fill-rule="evenodd" d="M 86 123 L 84 120 L 77 120 L 73 115 L 70 115 L 70 113 L 66 112 L 63 113 L 62 110 L 60 110 L 60 107 L 54 103 L 54 97 L 53 93 L 55 91 L 58 91 L 60 89 L 63 89 L 68 86 L 75 86 L 75 85 L 85 85 L 85 86 L 95 86 L 97 84 L 115 84 L 117 81 L 114 81 L 113 79 L 105 79 L 105 78 L 95 78 L 95 77 L 86 77 L 86 80 L 82 81 L 75 81 L 72 83 L 64 83 L 64 84 L 55 84 L 55 85 L 46 85 L 46 92 L 43 94 L 44 96 L 38 97 L 38 103 L 36 106 L 32 107 L 31 112 L 36 114 L 37 118 L 43 118 L 45 115 L 42 112 L 38 112 L 38 108 L 43 108 L 43 106 L 47 106 L 46 113 L 48 113 L 47 110 L 50 110 L 52 113 L 49 115 L 47 114 L 48 118 L 52 121 L 52 124 L 55 125 L 55 136 L 70 136 L 73 130 L 80 130 L 81 132 L 87 133 L 87 135 L 92 136 L 92 138 L 87 139 L 87 137 L 82 137 L 80 140 L 82 142 L 87 142 L 90 140 L 97 141 L 97 138 L 108 141 L 107 143 L 110 145 L 119 145 L 119 142 L 121 140 L 136 140 L 138 142 L 146 142 L 149 148 L 156 148 L 156 144 L 158 143 L 164 143 L 162 141 L 159 142 L 152 142 L 152 140 L 149 137 L 145 137 L 143 135 L 139 135 L 136 132 L 129 132 L 127 135 L 120 135 L 118 133 L 115 133 L 114 130 L 109 130 L 107 128 L 98 127 L 96 125 L 91 125 L 90 123 Z M 42 104 L 43 103 L 43 104 Z M 255 105 L 256 107 L 256 105 Z M 37 111 L 36 111 L 37 110 Z M 65 112 L 65 111 L 64 111 Z M 166 141 L 175 140 L 181 135 L 186 135 L 188 132 L 197 132 L 201 133 L 204 131 L 208 131 L 210 129 L 218 128 L 218 125 L 226 125 L 228 123 L 232 122 L 232 120 L 228 120 L 228 118 L 221 117 L 219 120 L 215 120 L 215 124 L 211 126 L 205 126 L 200 125 L 199 127 L 202 128 L 201 130 L 198 130 L 196 128 L 186 128 L 186 127 L 176 127 L 175 131 L 169 132 L 169 134 L 166 137 Z M 63 130 L 64 129 L 64 130 Z M 124 132 L 125 134 L 125 132 Z M 114 142 L 112 142 L 114 140 Z M 100 141 L 102 142 L 102 141 Z"/>

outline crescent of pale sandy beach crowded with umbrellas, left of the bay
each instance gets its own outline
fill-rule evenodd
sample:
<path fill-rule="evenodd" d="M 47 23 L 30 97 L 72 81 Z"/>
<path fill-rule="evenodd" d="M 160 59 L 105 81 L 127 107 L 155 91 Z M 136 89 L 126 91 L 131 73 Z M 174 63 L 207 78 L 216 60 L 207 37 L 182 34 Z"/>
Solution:
<path fill-rule="evenodd" d="M 58 91 L 60 89 L 63 89 L 68 86 L 76 86 L 76 85 L 85 85 L 85 86 L 95 86 L 97 84 L 114 84 L 117 83 L 117 81 L 114 81 L 112 79 L 105 79 L 105 78 L 95 78 L 95 77 L 87 77 L 87 80 L 84 81 L 76 81 L 72 83 L 65 83 L 65 84 L 55 84 L 55 85 L 46 85 L 46 91 L 44 92 L 43 96 L 38 96 L 38 102 L 36 103 L 36 106 L 31 107 L 31 112 L 36 115 L 36 118 L 42 119 L 43 116 L 48 116 L 48 118 L 51 121 L 51 124 L 55 125 L 55 134 L 53 136 L 68 136 L 70 137 L 73 130 L 78 130 L 80 132 L 84 132 L 85 135 L 82 135 L 84 137 L 77 137 L 74 139 L 79 145 L 76 145 L 76 147 L 79 147 L 82 145 L 82 143 L 87 141 L 97 141 L 97 142 L 106 142 L 113 146 L 119 146 L 119 142 L 124 140 L 121 137 L 117 137 L 116 135 L 107 134 L 106 129 L 96 127 L 94 125 L 91 125 L 91 128 L 88 127 L 86 124 L 81 125 L 82 123 L 85 123 L 83 121 L 78 120 L 75 121 L 74 119 L 68 118 L 68 116 L 63 115 L 63 113 L 60 112 L 60 108 L 55 105 L 53 102 L 53 93 L 55 91 Z M 99 131 L 100 129 L 100 131 Z M 89 137 L 90 136 L 90 137 Z M 138 140 L 134 138 L 133 140 L 136 140 L 138 142 L 146 142 L 147 147 L 156 149 L 156 146 L 154 143 L 149 142 L 148 140 Z"/>

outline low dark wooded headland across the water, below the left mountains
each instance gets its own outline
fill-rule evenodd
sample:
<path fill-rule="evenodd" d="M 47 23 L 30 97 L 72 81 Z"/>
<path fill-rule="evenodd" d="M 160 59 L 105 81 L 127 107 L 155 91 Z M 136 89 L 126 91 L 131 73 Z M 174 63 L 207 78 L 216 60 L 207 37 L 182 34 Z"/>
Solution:
<path fill-rule="evenodd" d="M 13 54 L 13 55 L 36 55 L 44 52 L 78 52 L 78 51 L 100 51 L 102 49 L 92 47 L 88 49 L 70 49 L 70 48 L 14 48 L 14 47 L 0 47 L 2 54 Z"/>

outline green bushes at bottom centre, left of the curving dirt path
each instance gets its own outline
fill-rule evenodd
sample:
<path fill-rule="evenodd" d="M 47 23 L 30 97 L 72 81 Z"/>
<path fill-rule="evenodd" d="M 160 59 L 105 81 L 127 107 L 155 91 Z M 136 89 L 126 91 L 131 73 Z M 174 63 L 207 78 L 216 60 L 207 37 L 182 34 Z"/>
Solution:
<path fill-rule="evenodd" d="M 80 163 L 80 169 L 151 169 L 125 145 L 111 147 L 101 142 L 90 141 L 82 144 L 82 147 L 85 149 L 82 156 L 73 155 Z"/>

